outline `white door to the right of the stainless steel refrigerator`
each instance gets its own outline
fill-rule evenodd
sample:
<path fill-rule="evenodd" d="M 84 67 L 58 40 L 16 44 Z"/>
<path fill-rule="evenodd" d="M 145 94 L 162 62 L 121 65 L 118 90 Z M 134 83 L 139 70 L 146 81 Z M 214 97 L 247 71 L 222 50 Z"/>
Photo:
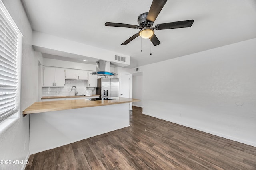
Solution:
<path fill-rule="evenodd" d="M 130 98 L 130 75 L 120 74 L 120 97 Z"/>

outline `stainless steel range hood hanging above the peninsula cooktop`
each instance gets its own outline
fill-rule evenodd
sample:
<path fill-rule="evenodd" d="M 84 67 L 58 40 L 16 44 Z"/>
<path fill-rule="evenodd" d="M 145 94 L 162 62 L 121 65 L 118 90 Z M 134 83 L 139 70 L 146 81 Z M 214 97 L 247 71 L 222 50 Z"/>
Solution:
<path fill-rule="evenodd" d="M 115 76 L 118 75 L 114 72 L 110 72 L 110 61 L 98 60 L 96 62 L 96 72 L 92 72 L 92 75 L 96 76 Z"/>

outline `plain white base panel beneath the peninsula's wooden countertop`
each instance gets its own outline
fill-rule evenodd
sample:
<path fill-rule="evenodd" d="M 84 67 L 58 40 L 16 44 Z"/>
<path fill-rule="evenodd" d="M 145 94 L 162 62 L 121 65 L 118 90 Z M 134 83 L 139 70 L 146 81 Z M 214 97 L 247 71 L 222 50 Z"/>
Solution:
<path fill-rule="evenodd" d="M 30 114 L 30 154 L 130 126 L 129 103 Z"/>

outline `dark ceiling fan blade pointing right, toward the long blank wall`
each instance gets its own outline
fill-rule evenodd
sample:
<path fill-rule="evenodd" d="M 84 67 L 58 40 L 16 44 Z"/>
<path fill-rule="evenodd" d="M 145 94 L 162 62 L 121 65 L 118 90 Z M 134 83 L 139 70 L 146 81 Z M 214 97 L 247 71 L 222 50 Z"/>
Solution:
<path fill-rule="evenodd" d="M 187 28 L 187 27 L 191 27 L 193 22 L 194 22 L 194 20 L 162 23 L 162 24 L 157 24 L 155 26 L 155 29 L 161 30 L 161 29 Z"/>

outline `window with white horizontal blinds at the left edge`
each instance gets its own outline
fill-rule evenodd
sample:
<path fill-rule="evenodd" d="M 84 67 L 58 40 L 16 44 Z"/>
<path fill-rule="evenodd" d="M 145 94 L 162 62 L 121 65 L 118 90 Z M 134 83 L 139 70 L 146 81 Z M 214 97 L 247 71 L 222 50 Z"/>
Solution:
<path fill-rule="evenodd" d="M 22 35 L 0 0 L 0 122 L 16 113 L 20 102 L 19 63 Z"/>

